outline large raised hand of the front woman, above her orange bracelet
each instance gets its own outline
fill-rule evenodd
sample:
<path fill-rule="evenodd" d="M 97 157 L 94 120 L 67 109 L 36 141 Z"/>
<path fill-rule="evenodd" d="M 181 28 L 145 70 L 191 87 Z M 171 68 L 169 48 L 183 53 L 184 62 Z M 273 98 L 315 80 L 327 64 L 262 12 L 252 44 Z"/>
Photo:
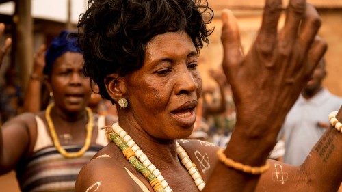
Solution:
<path fill-rule="evenodd" d="M 250 137 L 266 134 L 272 143 L 327 47 L 315 40 L 321 19 L 312 5 L 290 0 L 285 26 L 278 31 L 281 12 L 281 0 L 266 1 L 261 29 L 246 55 L 236 18 L 229 10 L 222 13 L 222 67 L 232 87 L 237 126 L 244 126 Z"/>

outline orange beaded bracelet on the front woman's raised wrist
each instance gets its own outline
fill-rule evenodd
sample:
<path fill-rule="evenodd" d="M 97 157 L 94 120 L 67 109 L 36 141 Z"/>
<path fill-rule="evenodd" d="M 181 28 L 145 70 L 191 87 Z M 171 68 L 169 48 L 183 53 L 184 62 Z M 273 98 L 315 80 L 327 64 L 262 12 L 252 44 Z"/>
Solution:
<path fill-rule="evenodd" d="M 218 159 L 220 159 L 220 161 L 224 163 L 224 165 L 228 167 L 232 167 L 233 169 L 236 169 L 238 171 L 257 175 L 257 174 L 262 174 L 263 172 L 266 172 L 269 169 L 268 163 L 266 163 L 266 165 L 263 165 L 261 167 L 251 167 L 250 165 L 244 165 L 242 163 L 233 161 L 233 159 L 229 159 L 228 157 L 226 157 L 226 155 L 223 152 L 224 152 L 223 149 L 218 150 L 217 152 Z"/>

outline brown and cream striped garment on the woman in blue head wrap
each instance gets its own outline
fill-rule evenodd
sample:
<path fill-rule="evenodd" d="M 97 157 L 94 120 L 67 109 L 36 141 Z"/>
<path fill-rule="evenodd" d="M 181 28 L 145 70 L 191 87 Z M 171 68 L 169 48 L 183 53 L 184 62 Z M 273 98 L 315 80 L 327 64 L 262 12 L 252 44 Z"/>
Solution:
<path fill-rule="evenodd" d="M 79 171 L 105 146 L 104 131 L 98 132 L 96 144 L 90 146 L 83 156 L 66 159 L 53 146 L 51 137 L 42 120 L 36 117 L 38 137 L 34 155 L 20 163 L 16 178 L 23 192 L 74 191 Z M 103 127 L 104 118 L 99 118 L 98 127 Z M 63 146 L 67 152 L 77 152 L 82 146 Z"/>

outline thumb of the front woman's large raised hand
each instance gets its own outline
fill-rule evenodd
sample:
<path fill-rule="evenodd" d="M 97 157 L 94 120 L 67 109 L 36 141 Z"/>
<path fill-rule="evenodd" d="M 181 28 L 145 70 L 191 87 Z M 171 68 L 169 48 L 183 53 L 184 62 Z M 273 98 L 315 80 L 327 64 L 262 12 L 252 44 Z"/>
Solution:
<path fill-rule="evenodd" d="M 243 59 L 241 51 L 241 42 L 237 19 L 233 16 L 231 10 L 222 11 L 222 45 L 224 49 L 223 64 L 224 72 L 233 70 L 239 66 Z"/>

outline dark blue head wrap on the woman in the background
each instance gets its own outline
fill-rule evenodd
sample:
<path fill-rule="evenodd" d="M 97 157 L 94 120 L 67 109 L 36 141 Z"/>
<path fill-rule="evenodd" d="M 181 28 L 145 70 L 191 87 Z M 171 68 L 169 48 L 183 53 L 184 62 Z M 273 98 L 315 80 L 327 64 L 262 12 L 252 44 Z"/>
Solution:
<path fill-rule="evenodd" d="M 82 53 L 77 38 L 68 37 L 68 31 L 62 31 L 60 36 L 54 38 L 45 54 L 45 66 L 43 73 L 50 74 L 55 60 L 66 52 Z"/>

